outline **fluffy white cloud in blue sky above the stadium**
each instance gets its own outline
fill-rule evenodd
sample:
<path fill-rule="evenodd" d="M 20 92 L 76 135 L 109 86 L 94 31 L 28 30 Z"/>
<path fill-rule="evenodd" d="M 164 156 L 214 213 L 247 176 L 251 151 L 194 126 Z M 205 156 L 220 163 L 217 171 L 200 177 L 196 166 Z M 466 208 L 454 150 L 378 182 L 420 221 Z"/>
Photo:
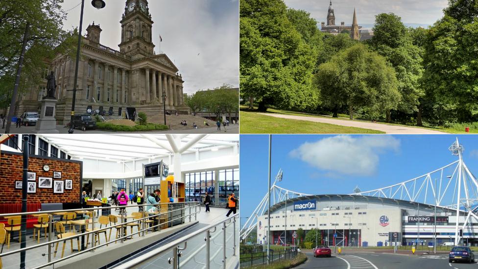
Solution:
<path fill-rule="evenodd" d="M 400 141 L 392 136 L 337 135 L 317 142 L 306 142 L 289 152 L 312 167 L 346 175 L 373 175 L 379 164 L 379 154 L 397 151 Z"/>

